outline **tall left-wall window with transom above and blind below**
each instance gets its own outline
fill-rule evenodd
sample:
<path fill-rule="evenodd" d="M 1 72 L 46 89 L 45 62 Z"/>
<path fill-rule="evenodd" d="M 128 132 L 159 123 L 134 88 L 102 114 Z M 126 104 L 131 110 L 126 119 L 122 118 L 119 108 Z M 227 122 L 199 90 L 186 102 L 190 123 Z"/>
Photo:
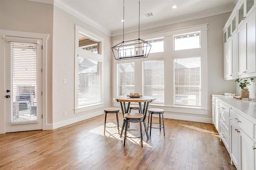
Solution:
<path fill-rule="evenodd" d="M 104 39 L 76 25 L 75 113 L 103 107 Z"/>

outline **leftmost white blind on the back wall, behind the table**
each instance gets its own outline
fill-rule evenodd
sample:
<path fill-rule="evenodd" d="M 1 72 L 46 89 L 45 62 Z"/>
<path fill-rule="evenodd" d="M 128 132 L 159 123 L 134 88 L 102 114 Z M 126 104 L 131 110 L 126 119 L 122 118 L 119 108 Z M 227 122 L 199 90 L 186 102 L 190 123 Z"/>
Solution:
<path fill-rule="evenodd" d="M 117 96 L 134 93 L 134 62 L 117 64 Z"/>

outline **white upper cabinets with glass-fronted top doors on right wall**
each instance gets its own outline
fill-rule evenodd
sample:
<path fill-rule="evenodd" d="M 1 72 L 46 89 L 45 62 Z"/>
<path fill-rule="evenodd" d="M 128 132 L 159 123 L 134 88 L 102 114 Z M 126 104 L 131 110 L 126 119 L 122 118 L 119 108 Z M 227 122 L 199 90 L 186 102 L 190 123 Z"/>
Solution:
<path fill-rule="evenodd" d="M 255 2 L 238 0 L 224 26 L 224 80 L 256 76 Z"/>

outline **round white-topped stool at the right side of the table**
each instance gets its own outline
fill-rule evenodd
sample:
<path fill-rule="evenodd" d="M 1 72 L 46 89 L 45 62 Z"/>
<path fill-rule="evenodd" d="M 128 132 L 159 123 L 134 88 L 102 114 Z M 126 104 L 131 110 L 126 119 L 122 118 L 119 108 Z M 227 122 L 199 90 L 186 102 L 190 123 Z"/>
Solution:
<path fill-rule="evenodd" d="M 152 108 L 152 109 L 148 109 L 148 127 L 150 127 L 150 135 L 151 136 L 151 128 L 155 128 L 155 129 L 161 129 L 163 128 L 164 129 L 164 109 L 157 109 L 157 108 Z M 150 116 L 151 114 L 151 116 Z M 159 115 L 159 123 L 156 123 L 156 122 L 152 122 L 152 115 L 153 114 L 156 114 L 156 115 Z M 161 123 L 161 115 L 162 115 L 162 119 L 163 119 L 163 123 Z M 149 123 L 149 117 L 150 118 L 150 123 Z M 159 127 L 152 127 L 152 124 L 159 124 Z M 161 127 L 162 125 L 162 127 Z M 164 132 L 164 136 L 165 136 L 165 132 Z"/>

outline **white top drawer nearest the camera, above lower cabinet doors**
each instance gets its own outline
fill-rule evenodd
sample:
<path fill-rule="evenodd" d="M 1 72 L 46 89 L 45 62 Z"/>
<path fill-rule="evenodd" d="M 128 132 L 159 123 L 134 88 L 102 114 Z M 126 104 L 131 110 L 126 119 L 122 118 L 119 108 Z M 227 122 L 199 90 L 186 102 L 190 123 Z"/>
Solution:
<path fill-rule="evenodd" d="M 230 109 L 230 119 L 232 119 L 249 137 L 254 138 L 254 124 L 251 121 L 232 109 Z"/>

